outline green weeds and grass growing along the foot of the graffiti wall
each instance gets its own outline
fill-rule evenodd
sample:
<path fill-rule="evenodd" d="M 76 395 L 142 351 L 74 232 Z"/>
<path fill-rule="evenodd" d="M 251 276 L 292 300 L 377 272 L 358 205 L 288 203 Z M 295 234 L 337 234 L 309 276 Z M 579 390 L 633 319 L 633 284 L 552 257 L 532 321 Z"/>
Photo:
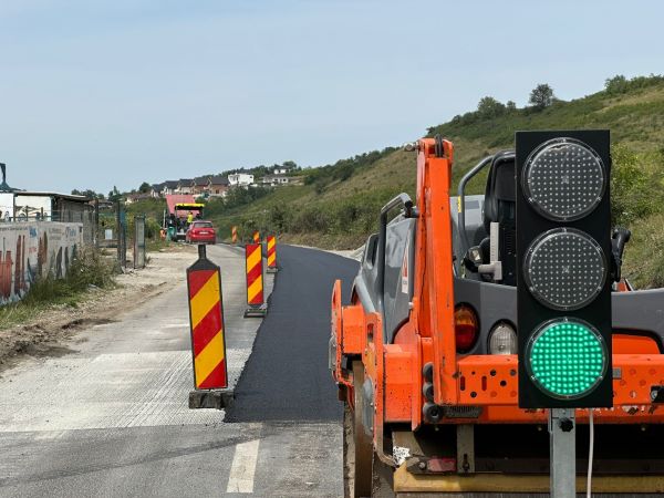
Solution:
<path fill-rule="evenodd" d="M 0 329 L 25 323 L 54 307 L 77 308 L 92 290 L 115 286 L 113 263 L 98 250 L 80 251 L 68 276 L 56 279 L 52 273 L 38 280 L 21 301 L 0 308 Z"/>

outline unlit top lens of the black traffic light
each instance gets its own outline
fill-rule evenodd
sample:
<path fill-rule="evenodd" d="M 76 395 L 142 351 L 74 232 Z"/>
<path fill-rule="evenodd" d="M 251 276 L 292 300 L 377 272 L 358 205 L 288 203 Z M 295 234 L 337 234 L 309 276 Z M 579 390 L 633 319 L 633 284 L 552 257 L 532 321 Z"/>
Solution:
<path fill-rule="evenodd" d="M 572 138 L 556 138 L 535 149 L 521 181 L 528 201 L 554 221 L 583 218 L 600 204 L 606 188 L 602 159 Z"/>

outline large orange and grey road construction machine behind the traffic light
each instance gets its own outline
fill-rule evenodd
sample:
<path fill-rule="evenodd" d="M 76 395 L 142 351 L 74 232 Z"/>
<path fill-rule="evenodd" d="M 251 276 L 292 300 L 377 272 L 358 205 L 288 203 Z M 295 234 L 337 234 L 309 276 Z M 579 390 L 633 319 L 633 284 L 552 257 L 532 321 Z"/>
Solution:
<path fill-rule="evenodd" d="M 550 411 L 519 407 L 517 157 L 483 159 L 453 197 L 453 144 L 407 149 L 417 153 L 416 201 L 401 194 L 381 210 L 350 304 L 340 281 L 332 292 L 345 496 L 548 496 Z M 466 195 L 481 172 L 485 195 Z M 627 240 L 625 230 L 611 240 L 612 406 L 571 409 L 578 488 L 590 459 L 593 492 L 662 496 L 664 290 L 620 278 Z"/>

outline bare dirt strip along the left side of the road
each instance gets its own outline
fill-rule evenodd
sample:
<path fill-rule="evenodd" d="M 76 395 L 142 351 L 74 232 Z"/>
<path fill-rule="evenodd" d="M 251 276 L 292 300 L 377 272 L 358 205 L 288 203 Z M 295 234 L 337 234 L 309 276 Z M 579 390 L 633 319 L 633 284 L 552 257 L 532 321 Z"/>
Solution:
<path fill-rule="evenodd" d="M 52 307 L 27 323 L 0 330 L 0 372 L 27 356 L 66 354 L 68 340 L 79 330 L 116 321 L 124 312 L 181 281 L 187 267 L 196 260 L 195 255 L 195 247 L 184 245 L 151 252 L 145 269 L 127 268 L 117 276 L 116 288 L 92 288 L 75 308 Z"/>

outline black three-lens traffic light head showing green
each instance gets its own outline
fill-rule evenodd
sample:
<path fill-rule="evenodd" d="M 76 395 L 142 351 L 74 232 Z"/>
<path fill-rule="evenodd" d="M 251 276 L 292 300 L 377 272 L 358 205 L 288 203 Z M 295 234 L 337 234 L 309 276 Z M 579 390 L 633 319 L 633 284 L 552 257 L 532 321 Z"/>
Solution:
<path fill-rule="evenodd" d="M 612 405 L 608 131 L 517 132 L 519 406 Z"/>

